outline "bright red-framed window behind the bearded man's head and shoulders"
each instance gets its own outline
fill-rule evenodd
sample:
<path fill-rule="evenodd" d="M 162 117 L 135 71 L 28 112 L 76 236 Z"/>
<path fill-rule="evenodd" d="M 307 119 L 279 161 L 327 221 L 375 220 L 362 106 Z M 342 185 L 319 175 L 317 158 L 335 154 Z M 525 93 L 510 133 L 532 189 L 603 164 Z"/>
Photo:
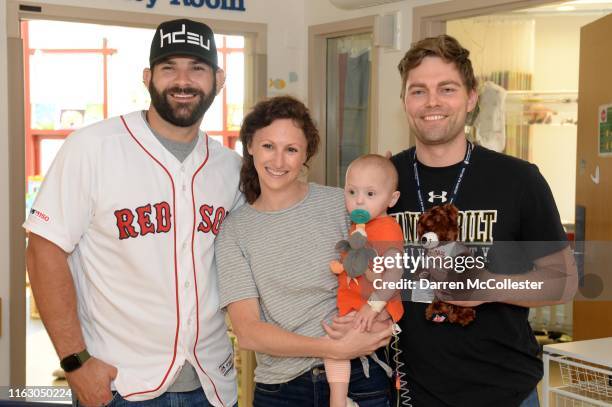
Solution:
<path fill-rule="evenodd" d="M 21 28 L 26 177 L 29 183 L 39 183 L 72 131 L 147 109 L 150 99 L 142 70 L 148 66 L 154 30 L 45 20 L 23 21 Z M 245 37 L 215 35 L 215 41 L 227 81 L 202 129 L 234 148 L 244 112 Z"/>

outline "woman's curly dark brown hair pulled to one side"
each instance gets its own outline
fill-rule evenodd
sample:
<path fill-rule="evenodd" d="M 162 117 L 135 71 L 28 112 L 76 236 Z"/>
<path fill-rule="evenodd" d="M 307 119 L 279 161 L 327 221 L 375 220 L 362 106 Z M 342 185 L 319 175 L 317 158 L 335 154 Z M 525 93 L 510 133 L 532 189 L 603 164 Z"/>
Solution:
<path fill-rule="evenodd" d="M 240 169 L 240 190 L 250 204 L 255 202 L 261 194 L 261 187 L 253 156 L 249 154 L 248 148 L 253 141 L 255 132 L 268 127 L 277 119 L 291 119 L 304 132 L 307 144 L 306 163 L 316 154 L 319 148 L 319 130 L 317 130 L 310 117 L 308 108 L 299 100 L 291 96 L 277 96 L 263 100 L 253 106 L 249 114 L 244 117 L 240 128 L 243 157 L 242 168 Z"/>

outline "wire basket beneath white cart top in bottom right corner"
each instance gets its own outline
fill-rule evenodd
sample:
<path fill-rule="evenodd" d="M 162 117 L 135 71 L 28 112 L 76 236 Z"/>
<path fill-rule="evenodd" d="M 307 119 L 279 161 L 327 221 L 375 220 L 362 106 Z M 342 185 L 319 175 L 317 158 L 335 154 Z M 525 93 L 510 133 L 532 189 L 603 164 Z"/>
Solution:
<path fill-rule="evenodd" d="M 562 389 L 594 401 L 593 404 L 585 402 L 577 406 L 612 406 L 612 369 L 570 357 L 560 357 L 557 362 L 563 381 Z"/>

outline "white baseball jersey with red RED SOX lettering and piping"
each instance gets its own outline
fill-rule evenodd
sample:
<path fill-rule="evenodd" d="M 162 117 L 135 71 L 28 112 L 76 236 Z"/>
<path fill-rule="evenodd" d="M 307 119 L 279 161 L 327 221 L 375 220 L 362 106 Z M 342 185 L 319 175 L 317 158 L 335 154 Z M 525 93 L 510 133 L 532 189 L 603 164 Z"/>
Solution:
<path fill-rule="evenodd" d="M 237 401 L 214 240 L 243 202 L 240 157 L 207 136 L 179 162 L 141 112 L 68 137 L 24 224 L 69 253 L 89 352 L 130 401 L 166 391 L 185 361 L 214 406 Z"/>

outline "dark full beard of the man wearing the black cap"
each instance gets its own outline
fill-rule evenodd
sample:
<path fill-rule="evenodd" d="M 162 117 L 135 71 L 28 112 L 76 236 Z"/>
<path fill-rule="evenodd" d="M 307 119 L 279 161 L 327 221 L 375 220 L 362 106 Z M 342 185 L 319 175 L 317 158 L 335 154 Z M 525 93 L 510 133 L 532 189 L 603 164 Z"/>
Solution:
<path fill-rule="evenodd" d="M 178 107 L 172 107 L 169 102 L 171 93 L 194 94 L 198 96 L 198 102 L 195 105 L 179 103 Z M 149 82 L 149 94 L 151 95 L 151 104 L 164 120 L 178 127 L 190 127 L 202 119 L 204 113 L 212 105 L 217 95 L 217 84 L 213 81 L 213 88 L 208 95 L 196 88 L 181 88 L 179 86 L 168 88 L 160 93 L 151 81 Z M 181 114 L 181 111 L 186 113 Z"/>

